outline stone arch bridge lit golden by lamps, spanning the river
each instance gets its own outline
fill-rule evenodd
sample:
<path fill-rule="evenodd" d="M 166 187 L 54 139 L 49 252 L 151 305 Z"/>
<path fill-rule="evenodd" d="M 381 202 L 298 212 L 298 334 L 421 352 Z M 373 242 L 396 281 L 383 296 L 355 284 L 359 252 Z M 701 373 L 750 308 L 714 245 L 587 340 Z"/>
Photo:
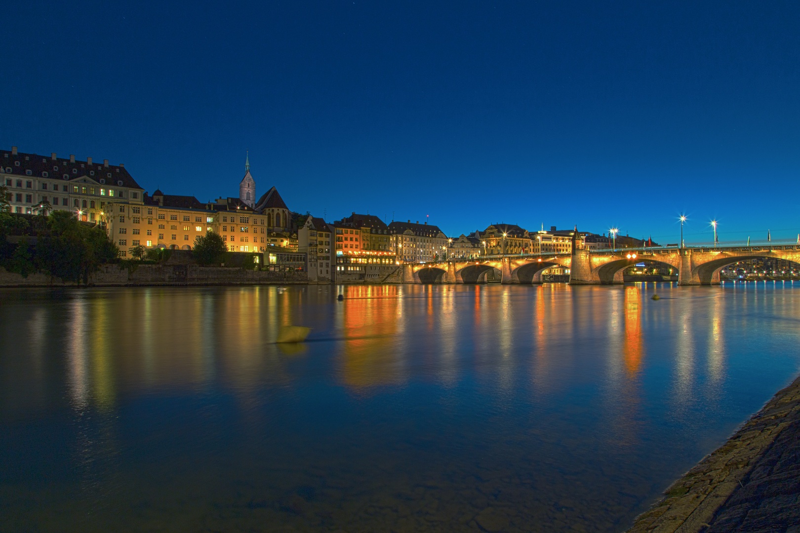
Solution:
<path fill-rule="evenodd" d="M 573 252 L 525 253 L 481 256 L 402 265 L 403 283 L 486 283 L 492 268 L 502 273 L 503 284 L 542 282 L 546 268 L 570 268 L 570 284 L 621 284 L 626 267 L 641 261 L 658 261 L 678 272 L 680 285 L 719 284 L 719 271 L 737 261 L 773 257 L 800 263 L 800 245 L 795 242 L 718 243 L 714 245 L 653 246 L 625 249 L 581 249 Z"/>

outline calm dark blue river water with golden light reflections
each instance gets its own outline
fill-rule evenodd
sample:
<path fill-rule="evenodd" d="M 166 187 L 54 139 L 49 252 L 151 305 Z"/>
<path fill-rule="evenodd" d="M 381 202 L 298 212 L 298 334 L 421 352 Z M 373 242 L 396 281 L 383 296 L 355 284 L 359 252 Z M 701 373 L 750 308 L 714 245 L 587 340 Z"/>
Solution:
<path fill-rule="evenodd" d="M 790 283 L 2 289 L 0 531 L 622 531 L 798 325 Z"/>

